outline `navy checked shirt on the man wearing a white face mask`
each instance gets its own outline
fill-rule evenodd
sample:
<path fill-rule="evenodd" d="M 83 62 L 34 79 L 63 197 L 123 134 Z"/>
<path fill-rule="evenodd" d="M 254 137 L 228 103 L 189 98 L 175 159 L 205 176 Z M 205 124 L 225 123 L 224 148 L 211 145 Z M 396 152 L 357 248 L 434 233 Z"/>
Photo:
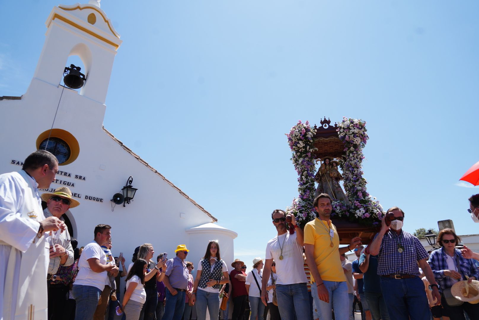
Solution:
<path fill-rule="evenodd" d="M 376 239 L 378 234 L 374 237 Z M 403 252 L 398 251 L 398 243 Z M 418 238 L 401 230 L 398 234 L 389 230 L 384 235 L 377 255 L 377 274 L 413 274 L 419 276 L 418 261 L 427 259 L 428 254 Z"/>

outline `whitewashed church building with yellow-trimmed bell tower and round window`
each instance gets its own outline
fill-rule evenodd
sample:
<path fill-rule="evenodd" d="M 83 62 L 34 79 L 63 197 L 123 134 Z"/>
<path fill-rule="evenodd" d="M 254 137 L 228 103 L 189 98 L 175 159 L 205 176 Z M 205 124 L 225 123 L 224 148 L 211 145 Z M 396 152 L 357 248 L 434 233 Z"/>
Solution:
<path fill-rule="evenodd" d="M 237 233 L 220 227 L 217 218 L 103 127 L 108 84 L 122 41 L 99 1 L 54 7 L 46 28 L 27 91 L 21 97 L 0 97 L 0 172 L 21 170 L 30 153 L 47 145 L 60 162 L 49 191 L 68 186 L 81 203 L 66 213 L 80 246 L 93 240 L 97 224 L 105 223 L 112 226 L 114 255 L 124 252 L 126 264 L 134 249 L 147 242 L 169 258 L 178 244 L 186 244 L 187 260 L 196 267 L 208 241 L 217 239 L 230 265 Z M 70 56 L 83 63 L 80 72 L 86 80 L 79 91 L 60 85 Z M 130 176 L 138 189 L 133 201 L 124 205 L 119 199 L 115 205 L 110 200 L 122 193 Z"/>

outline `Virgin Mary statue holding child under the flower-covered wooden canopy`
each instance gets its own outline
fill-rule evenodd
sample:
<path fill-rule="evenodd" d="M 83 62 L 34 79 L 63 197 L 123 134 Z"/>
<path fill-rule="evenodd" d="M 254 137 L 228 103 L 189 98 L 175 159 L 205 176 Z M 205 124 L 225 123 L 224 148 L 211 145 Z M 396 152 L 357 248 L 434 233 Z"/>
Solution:
<path fill-rule="evenodd" d="M 342 191 L 339 181 L 342 180 L 342 175 L 338 171 L 338 161 L 333 161 L 334 158 L 324 157 L 320 159 L 323 161 L 319 167 L 318 172 L 316 172 L 316 182 L 318 183 L 318 188 L 316 188 L 315 197 L 319 194 L 329 194 L 334 200 L 342 200 L 346 204 L 349 204 L 348 197 Z"/>

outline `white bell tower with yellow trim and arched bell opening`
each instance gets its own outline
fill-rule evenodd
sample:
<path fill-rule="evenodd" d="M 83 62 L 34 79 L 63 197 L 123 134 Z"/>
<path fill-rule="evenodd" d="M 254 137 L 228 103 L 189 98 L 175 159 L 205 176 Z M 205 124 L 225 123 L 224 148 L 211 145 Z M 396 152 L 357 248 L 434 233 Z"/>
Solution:
<path fill-rule="evenodd" d="M 116 50 L 122 41 L 100 9 L 100 0 L 59 5 L 46 19 L 46 40 L 34 73 L 35 80 L 58 86 L 69 56 L 83 62 L 86 80 L 79 94 L 105 103 Z"/>

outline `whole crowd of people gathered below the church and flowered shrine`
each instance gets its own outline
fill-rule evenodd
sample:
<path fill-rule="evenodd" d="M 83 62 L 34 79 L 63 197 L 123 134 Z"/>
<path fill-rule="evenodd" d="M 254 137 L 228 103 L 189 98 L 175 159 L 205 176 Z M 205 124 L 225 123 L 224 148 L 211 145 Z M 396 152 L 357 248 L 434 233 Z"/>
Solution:
<path fill-rule="evenodd" d="M 294 215 L 273 211 L 277 235 L 248 273 L 240 259 L 228 271 L 218 241 L 210 240 L 193 277 L 184 244 L 170 259 L 160 253 L 155 263 L 153 246 L 144 243 L 126 268 L 123 253 L 112 255 L 107 224 L 97 225 L 93 241 L 79 248 L 62 216 L 80 202 L 68 187 L 38 194 L 57 171 L 55 156 L 39 150 L 22 171 L 0 175 L 1 319 L 190 320 L 193 308 L 198 320 L 207 313 L 211 320 L 228 319 L 230 299 L 233 320 L 352 320 L 355 304 L 365 320 L 479 320 L 479 254 L 457 248 L 453 229 L 440 230 L 440 249 L 426 252 L 402 230 L 399 207 L 388 209 L 367 247 L 359 237 L 340 247 L 333 199 L 318 194 L 317 217 L 304 230 Z M 468 200 L 479 222 L 479 194 Z M 348 251 L 356 255 L 353 262 Z M 468 294 L 458 293 L 461 288 Z"/>

